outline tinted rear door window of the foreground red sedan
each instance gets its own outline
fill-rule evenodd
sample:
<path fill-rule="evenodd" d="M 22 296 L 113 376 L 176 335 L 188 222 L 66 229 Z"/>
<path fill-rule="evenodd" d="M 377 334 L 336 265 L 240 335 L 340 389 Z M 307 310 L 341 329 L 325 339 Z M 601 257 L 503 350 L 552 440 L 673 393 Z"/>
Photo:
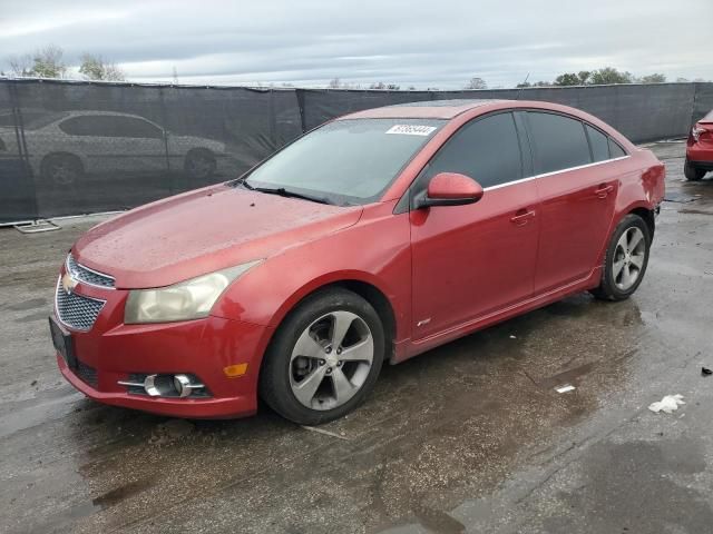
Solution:
<path fill-rule="evenodd" d="M 537 111 L 528 111 L 527 118 L 538 175 L 592 162 L 584 125 L 579 120 Z"/>

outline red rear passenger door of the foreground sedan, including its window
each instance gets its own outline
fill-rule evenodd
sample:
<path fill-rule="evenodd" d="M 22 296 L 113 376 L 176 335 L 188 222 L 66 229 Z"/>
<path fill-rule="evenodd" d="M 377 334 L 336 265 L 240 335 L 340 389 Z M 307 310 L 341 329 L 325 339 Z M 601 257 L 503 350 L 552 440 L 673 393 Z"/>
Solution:
<path fill-rule="evenodd" d="M 596 267 L 618 188 L 611 154 L 624 152 L 579 119 L 546 111 L 527 111 L 526 118 L 541 202 L 538 295 L 586 278 Z"/>

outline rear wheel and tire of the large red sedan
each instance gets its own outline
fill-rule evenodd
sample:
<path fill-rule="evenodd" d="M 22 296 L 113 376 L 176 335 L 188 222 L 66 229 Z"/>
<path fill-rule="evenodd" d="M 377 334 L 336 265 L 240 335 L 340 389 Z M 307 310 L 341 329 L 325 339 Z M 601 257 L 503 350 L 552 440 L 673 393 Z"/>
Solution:
<path fill-rule="evenodd" d="M 602 281 L 590 293 L 603 300 L 631 297 L 644 279 L 649 250 L 651 230 L 644 219 L 633 214 L 624 217 L 607 246 Z"/>

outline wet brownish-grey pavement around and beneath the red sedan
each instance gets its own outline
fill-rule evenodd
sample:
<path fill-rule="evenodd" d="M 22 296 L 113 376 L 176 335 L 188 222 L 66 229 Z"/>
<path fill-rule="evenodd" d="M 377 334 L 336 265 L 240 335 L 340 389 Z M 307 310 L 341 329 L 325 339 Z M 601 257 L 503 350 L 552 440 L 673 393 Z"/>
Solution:
<path fill-rule="evenodd" d="M 654 149 L 693 201 L 664 204 L 633 298 L 577 295 L 384 368 L 325 432 L 86 399 L 47 315 L 96 220 L 0 230 L 0 532 L 713 532 L 713 179 Z"/>

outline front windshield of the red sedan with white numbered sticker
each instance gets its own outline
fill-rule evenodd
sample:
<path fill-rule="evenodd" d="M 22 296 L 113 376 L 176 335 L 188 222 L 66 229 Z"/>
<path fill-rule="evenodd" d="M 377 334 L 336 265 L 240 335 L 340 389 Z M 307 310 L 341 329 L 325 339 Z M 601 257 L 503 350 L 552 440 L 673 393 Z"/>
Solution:
<path fill-rule="evenodd" d="M 254 188 L 284 189 L 330 204 L 378 200 L 443 120 L 345 119 L 287 146 L 245 179 Z"/>

